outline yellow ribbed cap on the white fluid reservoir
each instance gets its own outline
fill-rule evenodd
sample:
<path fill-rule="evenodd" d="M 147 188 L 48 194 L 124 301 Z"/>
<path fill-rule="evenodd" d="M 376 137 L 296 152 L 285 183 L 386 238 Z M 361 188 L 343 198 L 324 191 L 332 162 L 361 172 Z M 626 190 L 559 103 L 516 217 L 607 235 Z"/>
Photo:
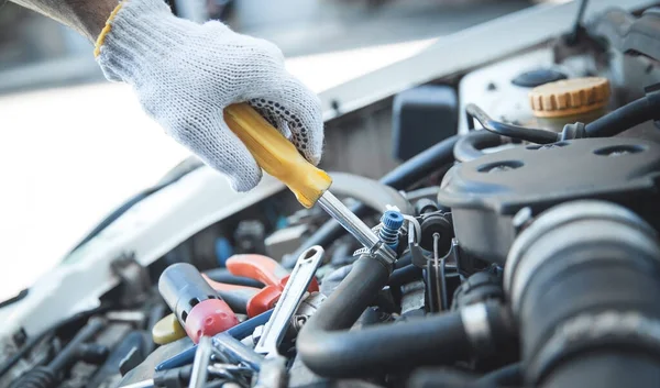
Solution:
<path fill-rule="evenodd" d="M 573 78 L 538 86 L 529 92 L 537 118 L 561 118 L 601 109 L 609 100 L 609 81 L 602 77 Z"/>

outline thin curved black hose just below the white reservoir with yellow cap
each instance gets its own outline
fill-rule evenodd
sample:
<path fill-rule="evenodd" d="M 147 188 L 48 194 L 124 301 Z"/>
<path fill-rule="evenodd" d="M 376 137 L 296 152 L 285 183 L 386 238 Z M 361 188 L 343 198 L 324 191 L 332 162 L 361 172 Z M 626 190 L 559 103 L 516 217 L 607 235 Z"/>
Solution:
<path fill-rule="evenodd" d="M 518 126 L 513 124 L 503 123 L 493 120 L 486 112 L 475 106 L 469 103 L 465 107 L 465 113 L 468 114 L 468 128 L 474 130 L 474 120 L 479 121 L 484 130 L 491 131 L 502 136 L 510 138 L 521 140 L 536 144 L 550 144 L 556 143 L 560 140 L 561 134 L 557 132 L 550 132 L 546 130 L 532 129 Z"/>

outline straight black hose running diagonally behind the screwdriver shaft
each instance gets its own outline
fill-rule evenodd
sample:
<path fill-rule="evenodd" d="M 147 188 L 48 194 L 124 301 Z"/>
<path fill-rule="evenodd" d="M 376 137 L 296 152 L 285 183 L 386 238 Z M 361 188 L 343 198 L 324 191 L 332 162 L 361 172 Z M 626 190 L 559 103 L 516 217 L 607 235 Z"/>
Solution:
<path fill-rule="evenodd" d="M 424 179 L 430 173 L 440 169 L 453 162 L 453 148 L 460 136 L 454 135 L 406 160 L 378 181 L 392 186 L 397 190 L 405 190 L 408 186 Z M 331 188 L 332 189 L 332 188 Z M 364 217 L 369 208 L 362 203 L 353 206 L 351 211 L 358 217 Z M 293 254 L 283 258 L 283 265 L 293 268 L 298 256 L 314 245 L 327 247 L 341 237 L 345 230 L 334 220 L 327 221 Z"/>

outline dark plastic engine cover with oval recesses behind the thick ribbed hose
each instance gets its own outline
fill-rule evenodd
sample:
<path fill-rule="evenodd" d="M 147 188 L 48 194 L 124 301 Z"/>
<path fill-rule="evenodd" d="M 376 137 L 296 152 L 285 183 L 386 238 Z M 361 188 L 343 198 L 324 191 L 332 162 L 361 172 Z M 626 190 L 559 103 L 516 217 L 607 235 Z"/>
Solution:
<path fill-rule="evenodd" d="M 620 203 L 660 226 L 660 145 L 637 138 L 581 138 L 516 146 L 453 166 L 438 201 L 452 210 L 462 253 L 504 264 L 514 215 L 574 199 Z"/>

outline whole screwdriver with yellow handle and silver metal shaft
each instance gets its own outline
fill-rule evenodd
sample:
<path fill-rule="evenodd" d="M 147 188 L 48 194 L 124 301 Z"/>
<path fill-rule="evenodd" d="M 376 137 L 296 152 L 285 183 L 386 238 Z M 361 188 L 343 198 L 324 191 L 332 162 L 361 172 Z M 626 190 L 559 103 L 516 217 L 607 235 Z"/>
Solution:
<path fill-rule="evenodd" d="M 311 208 L 318 202 L 369 252 L 394 263 L 394 251 L 328 190 L 332 178 L 307 162 L 294 144 L 257 111 L 244 102 L 232 104 L 224 110 L 224 121 L 260 167 L 285 184 L 300 204 Z"/>

